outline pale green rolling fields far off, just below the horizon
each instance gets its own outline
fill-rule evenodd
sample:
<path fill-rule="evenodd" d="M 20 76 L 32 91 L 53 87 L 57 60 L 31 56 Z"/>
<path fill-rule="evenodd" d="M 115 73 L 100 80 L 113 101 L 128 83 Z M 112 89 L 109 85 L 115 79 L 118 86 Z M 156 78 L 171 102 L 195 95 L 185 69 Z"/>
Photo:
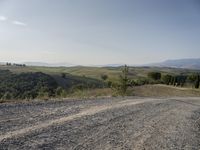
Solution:
<path fill-rule="evenodd" d="M 18 66 L 0 66 L 0 69 L 8 69 L 14 73 L 21 72 L 43 72 L 51 75 L 60 75 L 61 73 L 68 73 L 76 76 L 85 76 L 95 79 L 101 79 L 102 74 L 106 74 L 109 80 L 116 80 L 121 73 L 122 67 L 18 67 Z M 159 68 L 159 67 L 129 67 L 129 77 L 132 79 L 146 77 L 149 72 L 159 71 L 163 74 L 191 74 L 199 72 L 199 70 L 177 69 L 177 68 Z"/>

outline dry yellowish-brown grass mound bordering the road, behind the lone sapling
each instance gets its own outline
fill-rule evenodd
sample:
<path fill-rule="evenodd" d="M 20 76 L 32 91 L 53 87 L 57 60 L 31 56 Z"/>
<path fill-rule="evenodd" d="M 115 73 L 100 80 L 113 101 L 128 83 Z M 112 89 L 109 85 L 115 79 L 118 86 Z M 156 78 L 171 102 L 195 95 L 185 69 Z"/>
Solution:
<path fill-rule="evenodd" d="M 77 91 L 68 95 L 69 98 L 115 97 L 115 91 L 110 88 Z M 200 97 L 199 89 L 179 88 L 167 85 L 142 85 L 128 89 L 127 96 L 167 98 L 167 97 Z"/>

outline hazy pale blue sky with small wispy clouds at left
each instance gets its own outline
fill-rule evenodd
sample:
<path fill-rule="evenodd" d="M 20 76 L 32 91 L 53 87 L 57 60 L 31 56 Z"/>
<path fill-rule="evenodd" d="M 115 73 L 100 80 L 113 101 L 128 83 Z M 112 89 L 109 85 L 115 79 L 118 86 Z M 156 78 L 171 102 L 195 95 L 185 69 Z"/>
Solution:
<path fill-rule="evenodd" d="M 0 62 L 200 57 L 200 0 L 0 0 Z"/>

